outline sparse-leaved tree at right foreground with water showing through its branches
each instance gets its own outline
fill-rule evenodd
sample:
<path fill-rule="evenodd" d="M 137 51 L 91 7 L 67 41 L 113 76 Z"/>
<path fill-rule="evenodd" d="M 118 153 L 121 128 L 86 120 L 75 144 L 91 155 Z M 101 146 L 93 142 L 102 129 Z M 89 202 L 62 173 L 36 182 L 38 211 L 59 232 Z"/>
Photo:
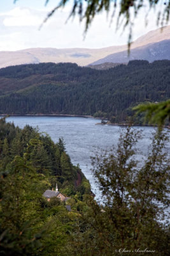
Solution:
<path fill-rule="evenodd" d="M 154 255 L 168 255 L 168 226 L 162 223 L 168 220 L 169 204 L 170 166 L 163 152 L 167 137 L 161 129 L 155 133 L 152 151 L 142 166 L 134 160 L 138 139 L 139 134 L 129 127 L 120 136 L 117 150 L 93 159 L 94 176 L 105 205 L 106 221 L 98 223 L 113 236 L 113 252 L 120 248 L 131 252 L 150 248 L 155 250 Z M 160 244 L 163 237 L 166 243 Z M 131 252 L 127 255 L 132 255 Z"/>

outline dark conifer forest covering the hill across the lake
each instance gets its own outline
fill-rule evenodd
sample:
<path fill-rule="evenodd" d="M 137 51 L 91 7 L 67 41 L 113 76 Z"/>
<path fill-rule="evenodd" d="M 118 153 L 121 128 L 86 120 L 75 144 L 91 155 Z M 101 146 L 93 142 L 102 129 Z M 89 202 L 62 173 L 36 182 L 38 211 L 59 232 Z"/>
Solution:
<path fill-rule="evenodd" d="M 169 74 L 168 60 L 129 61 L 109 70 L 72 63 L 1 68 L 0 113 L 93 115 L 125 122 L 137 104 L 169 99 Z"/>

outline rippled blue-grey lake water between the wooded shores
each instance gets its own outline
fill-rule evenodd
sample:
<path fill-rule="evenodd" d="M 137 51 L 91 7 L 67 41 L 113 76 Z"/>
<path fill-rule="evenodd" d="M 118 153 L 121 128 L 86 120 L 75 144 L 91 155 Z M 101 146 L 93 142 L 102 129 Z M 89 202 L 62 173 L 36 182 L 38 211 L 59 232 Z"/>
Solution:
<path fill-rule="evenodd" d="M 71 157 L 74 165 L 80 164 L 82 172 L 90 180 L 92 190 L 96 195 L 96 184 L 90 169 L 90 156 L 102 149 L 109 149 L 117 145 L 120 131 L 122 128 L 113 125 L 96 125 L 94 118 L 81 117 L 61 117 L 61 116 L 10 116 L 6 118 L 8 122 L 13 122 L 18 127 L 23 128 L 26 124 L 32 127 L 39 127 L 39 131 L 47 132 L 54 142 L 60 137 L 64 138 L 66 151 Z M 123 128 L 125 129 L 125 128 Z M 136 155 L 139 161 L 142 156 L 148 153 L 150 146 L 150 137 L 154 131 L 153 127 L 134 127 L 134 129 L 143 130 L 143 139 L 139 141 L 137 148 L 141 150 Z M 170 145 L 167 147 L 170 152 Z"/>

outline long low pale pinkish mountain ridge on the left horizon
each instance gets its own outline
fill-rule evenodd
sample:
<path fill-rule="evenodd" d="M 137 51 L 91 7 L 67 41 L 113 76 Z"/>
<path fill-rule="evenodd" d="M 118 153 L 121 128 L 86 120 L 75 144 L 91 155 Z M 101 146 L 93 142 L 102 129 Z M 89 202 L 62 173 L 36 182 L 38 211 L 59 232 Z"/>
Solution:
<path fill-rule="evenodd" d="M 0 52 L 0 68 L 29 63 L 60 63 L 71 62 L 78 65 L 88 65 L 93 61 L 104 58 L 108 54 L 120 51 L 122 46 L 103 49 L 55 49 L 32 48 L 13 52 Z M 125 47 L 124 47 L 125 49 Z"/>

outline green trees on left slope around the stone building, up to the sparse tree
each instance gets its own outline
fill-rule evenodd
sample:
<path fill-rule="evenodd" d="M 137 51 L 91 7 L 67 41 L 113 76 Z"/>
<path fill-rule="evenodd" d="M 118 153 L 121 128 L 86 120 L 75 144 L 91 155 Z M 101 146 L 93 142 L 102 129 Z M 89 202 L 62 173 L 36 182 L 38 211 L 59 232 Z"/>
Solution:
<path fill-rule="evenodd" d="M 42 195 L 57 182 L 74 196 L 80 168 L 71 164 L 63 140 L 55 144 L 28 125 L 19 129 L 2 118 L 0 134 L 0 254 L 67 256 L 70 233 L 85 203 L 75 202 L 71 213 L 59 198 L 48 202 Z M 57 161 L 63 176 L 53 175 Z"/>

